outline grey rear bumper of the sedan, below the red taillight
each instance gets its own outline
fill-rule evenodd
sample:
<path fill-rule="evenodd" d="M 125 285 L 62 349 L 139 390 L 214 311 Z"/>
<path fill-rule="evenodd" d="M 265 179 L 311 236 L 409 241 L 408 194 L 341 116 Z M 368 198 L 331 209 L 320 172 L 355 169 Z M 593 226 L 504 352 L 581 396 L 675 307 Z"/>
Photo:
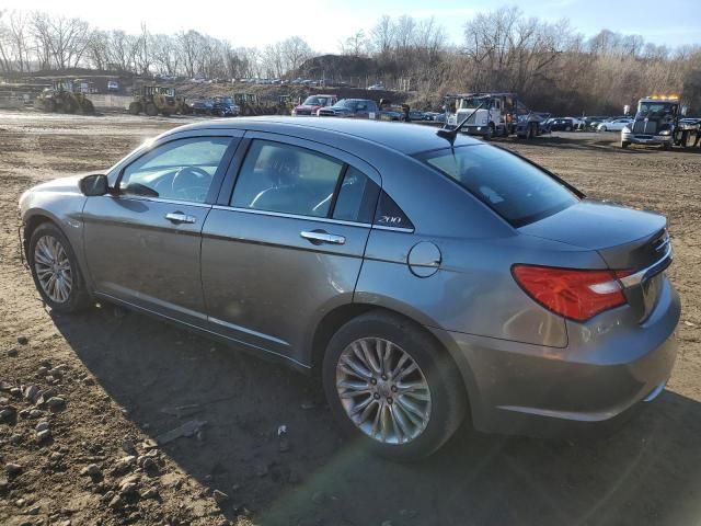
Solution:
<path fill-rule="evenodd" d="M 651 317 L 630 325 L 628 307 L 567 322 L 565 348 L 434 331 L 458 363 L 474 426 L 552 436 L 625 421 L 663 390 L 674 367 L 679 297 L 667 279 Z M 633 329 L 627 329 L 633 327 Z"/>

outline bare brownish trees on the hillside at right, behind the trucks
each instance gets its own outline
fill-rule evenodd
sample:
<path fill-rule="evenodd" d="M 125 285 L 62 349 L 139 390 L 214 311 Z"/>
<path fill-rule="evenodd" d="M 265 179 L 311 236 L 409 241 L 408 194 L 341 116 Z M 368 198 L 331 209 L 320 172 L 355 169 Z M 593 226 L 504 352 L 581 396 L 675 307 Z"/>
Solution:
<path fill-rule="evenodd" d="M 382 16 L 341 43 L 370 57 L 384 85 L 411 79 L 415 103 L 439 107 L 445 93 L 510 91 L 535 110 L 621 114 L 647 94 L 677 94 L 701 114 L 701 46 L 670 48 L 602 30 L 591 37 L 568 20 L 526 16 L 518 8 L 479 13 L 450 44 L 433 19 Z"/>

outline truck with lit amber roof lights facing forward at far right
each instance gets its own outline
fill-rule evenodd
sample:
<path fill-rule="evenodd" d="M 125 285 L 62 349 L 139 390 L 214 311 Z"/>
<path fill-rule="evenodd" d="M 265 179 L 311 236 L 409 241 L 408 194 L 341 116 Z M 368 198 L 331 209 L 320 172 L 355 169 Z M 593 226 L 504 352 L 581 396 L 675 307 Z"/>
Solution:
<path fill-rule="evenodd" d="M 637 101 L 637 111 L 632 123 L 621 130 L 621 148 L 630 145 L 687 146 L 694 126 L 681 123 L 686 114 L 677 95 L 650 95 Z"/>

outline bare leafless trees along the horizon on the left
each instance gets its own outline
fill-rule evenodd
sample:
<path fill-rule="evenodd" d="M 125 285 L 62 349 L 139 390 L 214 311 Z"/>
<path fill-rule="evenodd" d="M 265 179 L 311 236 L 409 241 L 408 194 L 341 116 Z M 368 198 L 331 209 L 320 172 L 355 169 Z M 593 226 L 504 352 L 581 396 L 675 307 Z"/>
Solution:
<path fill-rule="evenodd" d="M 168 35 L 91 27 L 81 19 L 0 10 L 0 72 L 94 68 L 193 78 L 279 78 L 313 55 L 299 36 L 238 47 L 194 30 Z"/>

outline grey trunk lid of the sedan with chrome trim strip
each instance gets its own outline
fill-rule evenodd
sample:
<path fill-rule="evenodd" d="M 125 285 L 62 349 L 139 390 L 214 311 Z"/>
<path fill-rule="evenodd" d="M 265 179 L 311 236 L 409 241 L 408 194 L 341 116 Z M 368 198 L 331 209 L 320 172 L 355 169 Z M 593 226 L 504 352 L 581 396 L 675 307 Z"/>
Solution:
<path fill-rule="evenodd" d="M 621 284 L 641 321 L 655 307 L 662 272 L 671 263 L 671 244 L 664 216 L 585 199 L 518 230 L 596 250 L 609 268 L 630 273 L 621 278 Z"/>

